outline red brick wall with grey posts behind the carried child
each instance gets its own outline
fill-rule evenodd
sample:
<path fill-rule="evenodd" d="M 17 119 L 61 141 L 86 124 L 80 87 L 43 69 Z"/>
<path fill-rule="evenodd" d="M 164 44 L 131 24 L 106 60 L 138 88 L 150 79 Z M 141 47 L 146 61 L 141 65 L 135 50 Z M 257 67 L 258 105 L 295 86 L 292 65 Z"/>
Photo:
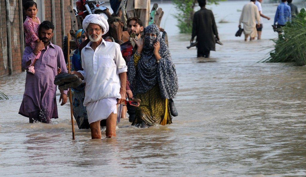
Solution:
<path fill-rule="evenodd" d="M 24 51 L 23 10 L 26 0 L 0 0 L 0 77 L 21 72 L 21 58 Z M 67 10 L 70 0 L 35 0 L 41 13 L 38 17 L 54 23 L 52 43 L 62 47 L 64 35 L 71 29 Z M 41 6 L 44 5 L 44 6 Z M 43 17 L 44 16 L 44 17 Z"/>

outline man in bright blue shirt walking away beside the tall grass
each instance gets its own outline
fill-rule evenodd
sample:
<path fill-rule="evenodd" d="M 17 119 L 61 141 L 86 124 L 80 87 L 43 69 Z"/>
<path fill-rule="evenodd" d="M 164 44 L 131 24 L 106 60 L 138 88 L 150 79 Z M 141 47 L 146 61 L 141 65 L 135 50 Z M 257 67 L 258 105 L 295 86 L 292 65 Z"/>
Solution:
<path fill-rule="evenodd" d="M 277 6 L 274 17 L 274 25 L 277 22 L 278 35 L 282 34 L 282 27 L 285 26 L 287 21 L 291 22 L 291 8 L 286 4 L 287 0 L 282 0 L 282 3 Z"/>

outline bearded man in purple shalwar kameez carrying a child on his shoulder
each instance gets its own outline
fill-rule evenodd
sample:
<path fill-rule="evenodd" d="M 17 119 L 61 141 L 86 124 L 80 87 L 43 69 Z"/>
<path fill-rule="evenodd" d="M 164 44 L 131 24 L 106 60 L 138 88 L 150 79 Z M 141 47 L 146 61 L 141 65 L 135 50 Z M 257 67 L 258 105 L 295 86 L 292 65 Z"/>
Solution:
<path fill-rule="evenodd" d="M 50 42 L 53 36 L 54 25 L 50 21 L 43 21 L 38 28 L 40 41 L 35 49 L 26 46 L 22 56 L 22 67 L 27 69 L 41 51 L 39 59 L 35 62 L 35 74 L 27 73 L 25 90 L 19 114 L 29 117 L 29 122 L 52 123 L 51 118 L 58 118 L 56 104 L 56 85 L 54 78 L 58 67 L 61 73 L 67 73 L 66 63 L 62 49 Z M 67 103 L 67 91 L 60 91 L 59 102 L 61 106 Z"/>

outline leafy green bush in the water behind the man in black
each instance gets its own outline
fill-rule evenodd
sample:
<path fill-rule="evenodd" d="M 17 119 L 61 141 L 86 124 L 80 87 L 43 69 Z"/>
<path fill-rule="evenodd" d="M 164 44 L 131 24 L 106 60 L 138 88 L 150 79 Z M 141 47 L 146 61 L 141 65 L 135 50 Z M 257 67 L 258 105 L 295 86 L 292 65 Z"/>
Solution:
<path fill-rule="evenodd" d="M 218 4 L 219 0 L 208 0 L 207 3 Z M 197 0 L 172 0 L 176 6 L 177 14 L 174 17 L 177 19 L 177 27 L 180 29 L 180 33 L 192 32 L 192 21 L 194 14 L 194 7 L 197 4 Z"/>

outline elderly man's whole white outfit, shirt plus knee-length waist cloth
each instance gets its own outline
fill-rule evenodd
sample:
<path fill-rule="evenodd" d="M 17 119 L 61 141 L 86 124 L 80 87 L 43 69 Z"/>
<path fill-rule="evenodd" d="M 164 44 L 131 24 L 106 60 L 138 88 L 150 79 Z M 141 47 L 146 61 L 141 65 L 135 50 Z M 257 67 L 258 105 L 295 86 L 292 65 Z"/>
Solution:
<path fill-rule="evenodd" d="M 89 124 L 107 119 L 111 113 L 117 114 L 117 98 L 121 98 L 119 74 L 127 72 L 119 44 L 103 39 L 94 51 L 91 43 L 82 49 L 84 70 L 78 71 L 86 82 L 83 104 Z"/>

